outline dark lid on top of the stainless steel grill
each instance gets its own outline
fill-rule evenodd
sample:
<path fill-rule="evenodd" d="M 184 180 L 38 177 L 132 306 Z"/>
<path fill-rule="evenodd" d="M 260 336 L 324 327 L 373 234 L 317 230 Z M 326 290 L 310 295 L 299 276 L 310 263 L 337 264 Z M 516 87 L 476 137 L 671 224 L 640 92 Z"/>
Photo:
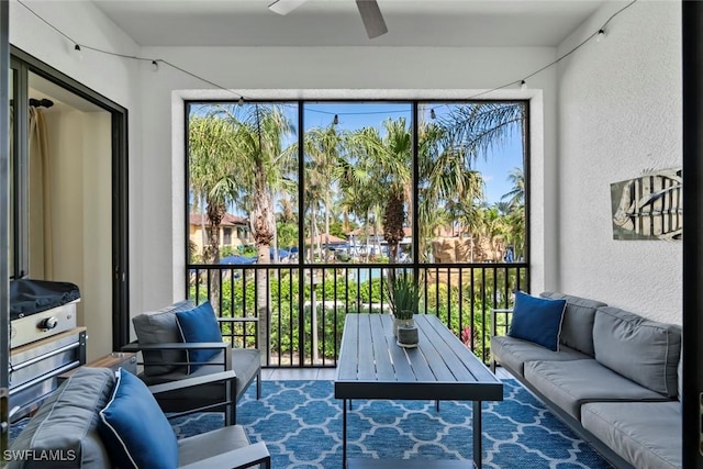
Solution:
<path fill-rule="evenodd" d="M 80 299 L 70 282 L 19 279 L 10 282 L 10 320 L 41 313 Z"/>

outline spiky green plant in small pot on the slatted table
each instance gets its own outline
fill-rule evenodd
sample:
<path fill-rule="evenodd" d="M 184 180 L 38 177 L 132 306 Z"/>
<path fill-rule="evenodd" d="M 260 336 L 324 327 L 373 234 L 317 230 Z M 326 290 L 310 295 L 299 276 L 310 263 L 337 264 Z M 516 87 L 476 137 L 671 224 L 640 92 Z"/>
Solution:
<path fill-rule="evenodd" d="M 388 297 L 393 314 L 393 335 L 402 347 L 417 346 L 417 327 L 413 314 L 420 305 L 420 287 L 410 275 L 388 276 Z"/>

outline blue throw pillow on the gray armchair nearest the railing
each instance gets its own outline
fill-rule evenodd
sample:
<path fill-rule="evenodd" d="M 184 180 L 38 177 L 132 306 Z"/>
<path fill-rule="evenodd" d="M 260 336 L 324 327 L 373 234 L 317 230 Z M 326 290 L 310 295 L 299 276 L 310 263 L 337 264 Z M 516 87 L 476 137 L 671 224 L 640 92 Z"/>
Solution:
<path fill-rule="evenodd" d="M 209 301 L 190 311 L 176 313 L 176 321 L 183 342 L 222 342 L 220 324 L 215 317 L 215 311 Z M 210 348 L 202 350 L 188 350 L 188 361 L 208 361 L 220 353 L 220 349 Z M 189 365 L 188 372 L 192 373 L 202 365 Z"/>

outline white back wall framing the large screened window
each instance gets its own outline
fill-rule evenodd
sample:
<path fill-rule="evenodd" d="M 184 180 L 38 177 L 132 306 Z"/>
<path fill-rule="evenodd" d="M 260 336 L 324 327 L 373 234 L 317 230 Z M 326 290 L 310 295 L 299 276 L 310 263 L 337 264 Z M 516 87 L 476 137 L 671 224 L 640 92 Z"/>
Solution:
<path fill-rule="evenodd" d="M 477 90 L 518 80 L 555 59 L 554 48 L 461 47 L 159 47 L 143 54 L 165 58 L 247 98 L 469 98 Z M 237 96 L 161 66 L 143 67 L 145 278 L 172 278 L 172 291 L 145 291 L 149 308 L 183 292 L 183 118 L 182 99 L 236 99 Z M 532 90 L 505 90 L 494 98 L 529 98 L 533 121 L 533 177 L 538 182 L 533 204 L 533 290 L 554 281 L 556 249 L 555 178 L 556 68 L 531 79 Z M 243 91 L 244 90 L 244 91 Z M 171 144 L 168 145 L 170 136 Z M 171 171 L 168 175 L 168 171 Z M 545 177 L 545 174 L 548 176 Z M 165 183 L 172 187 L 165 187 Z M 547 194 L 547 197 L 545 197 Z M 174 206 L 169 212 L 164 208 Z M 547 208 L 547 210 L 545 210 Z M 545 215 L 546 213 L 546 215 Z"/>

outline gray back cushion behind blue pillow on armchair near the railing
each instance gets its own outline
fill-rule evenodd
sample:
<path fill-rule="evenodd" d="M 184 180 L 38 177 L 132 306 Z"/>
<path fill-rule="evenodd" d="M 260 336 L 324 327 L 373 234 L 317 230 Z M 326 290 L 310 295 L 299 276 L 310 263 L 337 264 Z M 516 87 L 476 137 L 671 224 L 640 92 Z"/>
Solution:
<path fill-rule="evenodd" d="M 190 301 L 179 301 L 161 310 L 143 313 L 132 319 L 134 332 L 141 345 L 155 345 L 182 342 L 176 313 L 189 311 L 196 308 Z M 157 376 L 167 373 L 178 368 L 178 365 L 165 365 L 185 362 L 186 354 L 181 350 L 152 350 L 144 351 L 144 375 Z"/>

